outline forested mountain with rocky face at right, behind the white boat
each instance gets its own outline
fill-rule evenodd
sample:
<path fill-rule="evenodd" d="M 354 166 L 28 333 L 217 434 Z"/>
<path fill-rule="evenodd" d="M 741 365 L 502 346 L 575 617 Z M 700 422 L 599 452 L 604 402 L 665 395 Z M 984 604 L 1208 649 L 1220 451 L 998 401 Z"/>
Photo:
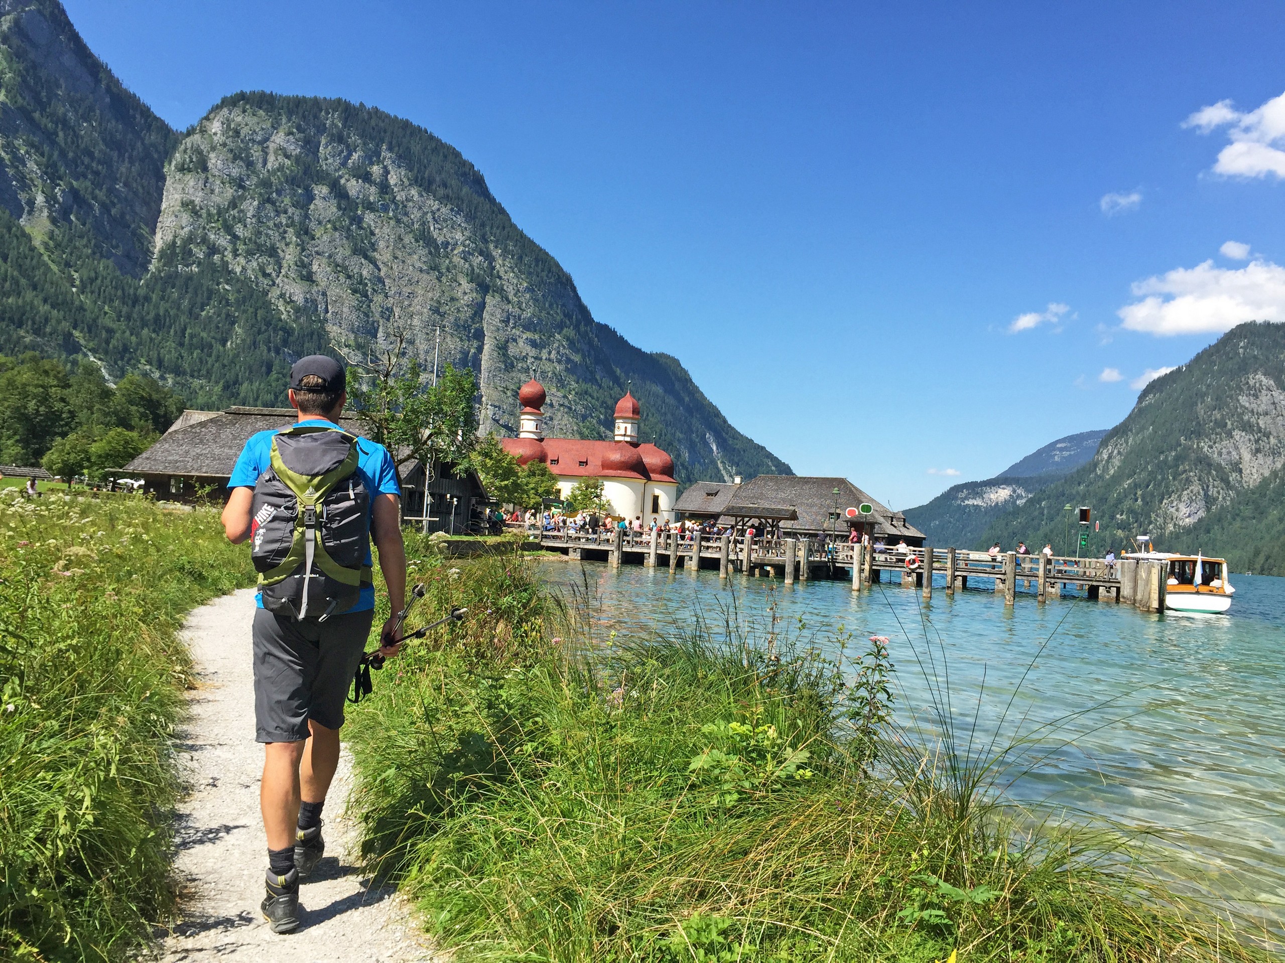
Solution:
<path fill-rule="evenodd" d="M 1285 326 L 1244 324 L 1144 388 L 1092 461 L 996 519 L 983 541 L 1064 551 L 1076 528 L 1064 506 L 1085 505 L 1101 528 L 1091 555 L 1149 534 L 1162 550 L 1285 574 L 1282 475 Z"/>

